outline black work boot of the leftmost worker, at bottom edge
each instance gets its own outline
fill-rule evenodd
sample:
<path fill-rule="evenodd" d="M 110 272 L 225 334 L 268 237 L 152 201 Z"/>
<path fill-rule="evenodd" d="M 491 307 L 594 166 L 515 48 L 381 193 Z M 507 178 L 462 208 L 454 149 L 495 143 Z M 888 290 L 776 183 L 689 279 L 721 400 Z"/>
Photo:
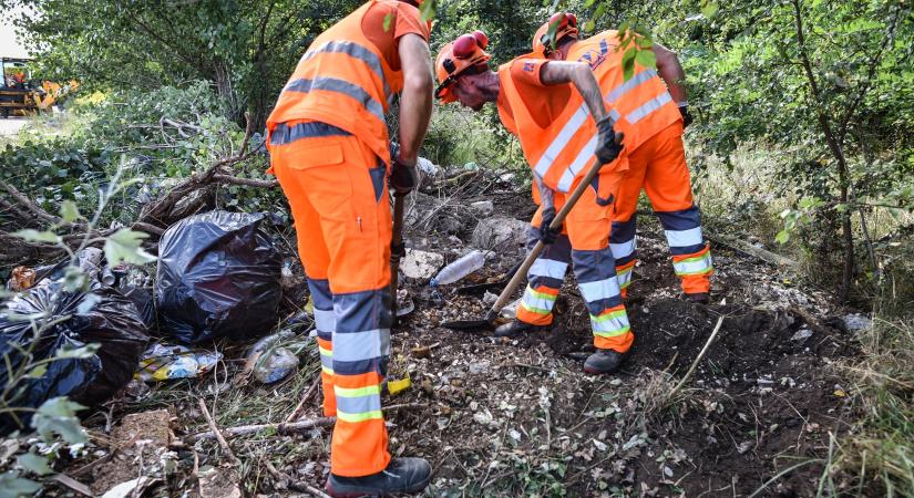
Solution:
<path fill-rule="evenodd" d="M 396 492 L 419 492 L 432 480 L 432 466 L 424 458 L 391 458 L 387 468 L 362 477 L 330 474 L 325 489 L 333 498 L 349 498 Z"/>

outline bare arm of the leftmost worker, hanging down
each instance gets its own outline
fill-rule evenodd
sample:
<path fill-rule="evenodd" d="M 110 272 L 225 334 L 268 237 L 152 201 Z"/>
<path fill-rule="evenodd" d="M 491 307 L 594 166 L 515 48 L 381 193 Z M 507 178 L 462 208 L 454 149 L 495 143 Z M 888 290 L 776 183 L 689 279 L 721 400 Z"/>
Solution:
<path fill-rule="evenodd" d="M 398 51 L 403 68 L 403 93 L 400 97 L 400 159 L 415 164 L 419 146 L 429 129 L 432 116 L 432 63 L 429 44 L 418 34 L 399 40 Z"/>

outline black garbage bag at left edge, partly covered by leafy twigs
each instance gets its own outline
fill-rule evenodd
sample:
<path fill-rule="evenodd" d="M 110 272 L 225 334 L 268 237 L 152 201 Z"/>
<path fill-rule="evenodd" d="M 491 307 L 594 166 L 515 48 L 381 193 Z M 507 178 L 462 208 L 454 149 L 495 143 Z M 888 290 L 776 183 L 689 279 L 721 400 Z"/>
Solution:
<path fill-rule="evenodd" d="M 0 359 L 9 362 L 0 369 L 0 385 L 8 384 L 11 371 L 28 365 L 27 353 L 34 363 L 86 344 L 99 344 L 99 350 L 89 357 L 45 363 L 44 373 L 24 378 L 12 391 L 10 406 L 37 408 L 57 396 L 69 396 L 86 406 L 101 404 L 130 382 L 146 349 L 146 326 L 133 302 L 111 288 L 96 286 L 89 292 L 65 292 L 61 286 L 58 282 L 32 289 L 0 308 Z M 43 314 L 35 321 L 38 330 L 65 319 L 47 326 L 37 339 L 30 321 L 12 319 L 37 314 Z M 17 416 L 23 424 L 31 417 L 28 413 Z M 0 417 L 0 434 L 18 427 L 13 418 Z"/>

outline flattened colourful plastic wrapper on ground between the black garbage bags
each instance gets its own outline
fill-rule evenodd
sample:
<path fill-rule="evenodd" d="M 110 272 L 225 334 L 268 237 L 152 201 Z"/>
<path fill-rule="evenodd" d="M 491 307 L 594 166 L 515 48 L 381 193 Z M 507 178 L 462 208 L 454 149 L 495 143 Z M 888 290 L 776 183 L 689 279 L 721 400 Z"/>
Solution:
<path fill-rule="evenodd" d="M 215 351 L 192 351 L 183 345 L 153 344 L 143 353 L 136 378 L 143 382 L 203 376 L 223 359 Z"/>

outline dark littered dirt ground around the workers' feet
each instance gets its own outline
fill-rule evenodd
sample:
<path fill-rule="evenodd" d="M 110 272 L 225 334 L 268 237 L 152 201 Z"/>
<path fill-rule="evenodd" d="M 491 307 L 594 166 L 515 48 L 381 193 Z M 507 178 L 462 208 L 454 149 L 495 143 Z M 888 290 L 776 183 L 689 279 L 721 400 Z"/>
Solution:
<path fill-rule="evenodd" d="M 440 251 L 448 261 L 468 250 L 475 219 L 465 206 L 473 200 L 493 200 L 496 212 L 520 219 L 532 212 L 525 193 L 480 189 L 452 207 L 442 206 L 443 197 L 417 203 L 410 246 Z M 422 214 L 433 209 L 438 212 L 425 220 Z M 592 338 L 572 276 L 551 333 L 506 341 L 483 330 L 440 326 L 484 314 L 480 295 L 455 289 L 499 280 L 517 262 L 516 248 L 501 250 L 483 270 L 442 288 L 441 300 L 432 299 L 425 281 L 403 279 L 417 311 L 393 331 L 391 372 L 398 378 L 409 374 L 412 387 L 386 398 L 386 415 L 390 452 L 432 461 L 427 496 L 815 495 L 831 438 L 852 416 L 841 380 L 830 369 L 855 354 L 839 318 L 844 310 L 826 294 L 793 283 L 789 273 L 722 246 L 712 246 L 712 303 L 686 301 L 659 225 L 653 217 L 640 224 L 640 262 L 626 300 L 636 344 L 616 375 L 582 370 Z M 287 302 L 304 300 L 295 297 L 301 289 L 299 282 Z M 719 320 L 719 335 L 695 375 L 670 394 Z M 175 435 L 167 452 L 155 453 L 161 460 L 155 465 L 131 464 L 135 475 L 161 479 L 152 486 L 156 496 L 201 496 L 201 476 L 228 468 L 237 470 L 237 486 L 248 496 L 322 488 L 329 471 L 327 428 L 274 425 L 229 436 L 234 456 L 213 439 L 193 437 L 208 430 L 198 398 L 222 430 L 283 423 L 302 396 L 296 419 L 320 417 L 320 393 L 310 394 L 316 353 L 298 375 L 264 386 L 238 375 L 245 345 L 216 346 L 227 360 L 205 377 L 156 384 L 148 392 L 134 385 L 106 406 L 107 413 L 90 417 L 86 425 L 97 437 L 72 467 L 123 453 L 125 444 L 119 446 L 114 435 L 126 414 L 166 408 L 173 414 L 166 429 Z M 92 480 L 104 465 L 81 475 Z M 235 496 L 238 488 L 229 484 L 216 495 Z"/>

